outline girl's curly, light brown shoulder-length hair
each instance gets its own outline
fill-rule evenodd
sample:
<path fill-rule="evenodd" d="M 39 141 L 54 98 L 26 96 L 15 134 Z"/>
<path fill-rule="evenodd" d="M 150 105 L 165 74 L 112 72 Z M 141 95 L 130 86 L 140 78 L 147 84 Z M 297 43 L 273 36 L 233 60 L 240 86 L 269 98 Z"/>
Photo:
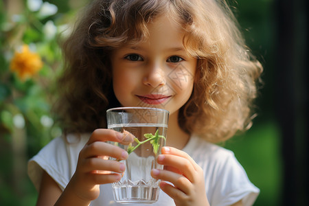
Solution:
<path fill-rule="evenodd" d="M 262 66 L 225 1 L 95 0 L 63 44 L 58 113 L 65 131 L 106 128 L 106 109 L 120 106 L 112 89 L 111 52 L 146 39 L 148 23 L 164 14 L 183 27 L 183 45 L 198 59 L 198 80 L 179 112 L 181 128 L 219 142 L 251 125 Z"/>

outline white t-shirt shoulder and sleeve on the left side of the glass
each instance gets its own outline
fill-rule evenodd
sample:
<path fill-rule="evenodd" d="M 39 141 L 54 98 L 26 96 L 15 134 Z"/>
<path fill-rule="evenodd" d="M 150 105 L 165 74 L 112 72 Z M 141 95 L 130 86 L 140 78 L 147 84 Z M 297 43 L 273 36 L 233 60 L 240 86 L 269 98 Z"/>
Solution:
<path fill-rule="evenodd" d="M 45 170 L 63 190 L 76 169 L 78 154 L 88 139 L 87 134 L 57 137 L 32 157 L 28 161 L 27 172 L 36 189 Z"/>

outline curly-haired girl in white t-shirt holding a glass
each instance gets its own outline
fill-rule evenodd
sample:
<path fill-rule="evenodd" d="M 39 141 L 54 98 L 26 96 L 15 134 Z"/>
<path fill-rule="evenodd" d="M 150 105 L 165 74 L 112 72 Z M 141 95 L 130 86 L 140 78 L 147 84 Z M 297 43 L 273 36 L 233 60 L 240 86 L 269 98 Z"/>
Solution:
<path fill-rule="evenodd" d="M 225 1 L 95 0 L 64 44 L 58 113 L 65 131 L 29 163 L 37 205 L 117 205 L 131 141 L 106 128 L 106 109 L 170 111 L 167 147 L 152 170 L 154 205 L 252 205 L 259 190 L 233 153 L 213 143 L 251 124 L 262 67 Z M 116 173 L 115 173 L 116 172 Z"/>

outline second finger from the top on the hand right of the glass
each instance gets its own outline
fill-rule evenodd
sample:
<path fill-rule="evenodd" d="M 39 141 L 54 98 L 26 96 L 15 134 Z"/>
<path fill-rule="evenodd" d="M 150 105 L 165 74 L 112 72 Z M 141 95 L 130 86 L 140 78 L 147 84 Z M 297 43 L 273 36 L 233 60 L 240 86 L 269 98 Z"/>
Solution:
<path fill-rule="evenodd" d="M 177 168 L 177 173 L 183 174 L 191 182 L 194 181 L 194 176 L 196 176 L 196 170 L 190 160 L 175 155 L 159 155 L 157 158 L 157 162 L 161 165 Z"/>

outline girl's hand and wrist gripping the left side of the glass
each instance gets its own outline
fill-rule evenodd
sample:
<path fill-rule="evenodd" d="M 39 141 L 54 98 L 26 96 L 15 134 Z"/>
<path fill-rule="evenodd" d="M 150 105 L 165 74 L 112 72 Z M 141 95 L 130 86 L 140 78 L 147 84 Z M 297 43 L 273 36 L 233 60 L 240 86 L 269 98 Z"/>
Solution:
<path fill-rule="evenodd" d="M 70 190 L 80 201 L 88 202 L 98 198 L 100 184 L 115 183 L 122 178 L 124 163 L 108 160 L 108 157 L 124 160 L 128 152 L 104 141 L 117 141 L 128 144 L 133 141 L 130 133 L 117 133 L 114 130 L 95 130 L 78 156 L 76 172 L 65 190 Z M 117 172 L 117 173 L 113 173 Z"/>

